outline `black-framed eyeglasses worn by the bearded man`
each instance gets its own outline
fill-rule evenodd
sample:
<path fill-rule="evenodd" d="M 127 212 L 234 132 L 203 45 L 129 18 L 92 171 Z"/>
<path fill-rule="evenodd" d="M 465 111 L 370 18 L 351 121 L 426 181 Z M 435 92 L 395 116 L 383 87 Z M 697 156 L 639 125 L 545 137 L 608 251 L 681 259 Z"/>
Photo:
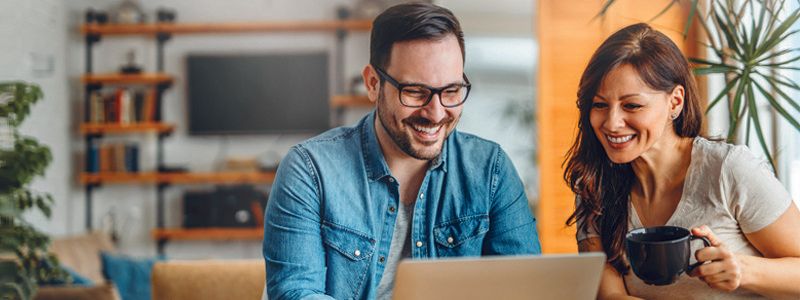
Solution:
<path fill-rule="evenodd" d="M 380 68 L 372 66 L 378 72 L 381 79 L 388 81 L 399 91 L 400 103 L 407 107 L 423 107 L 428 105 L 433 99 L 433 95 L 439 95 L 439 103 L 444 107 L 456 107 L 464 104 L 469 96 L 472 84 L 469 83 L 467 75 L 464 74 L 464 83 L 454 83 L 441 88 L 435 88 L 424 84 L 405 84 L 397 82 L 396 79 L 386 74 Z"/>

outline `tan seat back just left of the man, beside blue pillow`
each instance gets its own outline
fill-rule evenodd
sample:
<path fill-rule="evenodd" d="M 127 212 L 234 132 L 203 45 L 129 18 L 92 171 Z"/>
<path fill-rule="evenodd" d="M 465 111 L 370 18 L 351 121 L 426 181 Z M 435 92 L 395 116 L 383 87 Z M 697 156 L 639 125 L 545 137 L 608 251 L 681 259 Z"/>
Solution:
<path fill-rule="evenodd" d="M 264 260 L 166 261 L 153 266 L 153 299 L 261 299 Z"/>

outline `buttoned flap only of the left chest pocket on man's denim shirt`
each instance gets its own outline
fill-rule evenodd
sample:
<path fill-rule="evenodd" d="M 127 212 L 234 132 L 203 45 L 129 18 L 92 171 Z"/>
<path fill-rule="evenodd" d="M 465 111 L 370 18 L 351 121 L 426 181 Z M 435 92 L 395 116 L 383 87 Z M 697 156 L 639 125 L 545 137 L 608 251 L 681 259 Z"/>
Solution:
<path fill-rule="evenodd" d="M 335 223 L 322 222 L 323 243 L 353 261 L 372 257 L 375 239 Z"/>

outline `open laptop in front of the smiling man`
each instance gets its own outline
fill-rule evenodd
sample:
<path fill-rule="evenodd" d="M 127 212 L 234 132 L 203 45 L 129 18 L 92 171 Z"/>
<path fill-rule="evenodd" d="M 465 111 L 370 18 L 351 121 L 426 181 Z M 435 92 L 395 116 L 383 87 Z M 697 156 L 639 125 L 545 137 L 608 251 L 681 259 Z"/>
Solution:
<path fill-rule="evenodd" d="M 406 259 L 392 299 L 595 299 L 605 261 L 601 252 Z"/>

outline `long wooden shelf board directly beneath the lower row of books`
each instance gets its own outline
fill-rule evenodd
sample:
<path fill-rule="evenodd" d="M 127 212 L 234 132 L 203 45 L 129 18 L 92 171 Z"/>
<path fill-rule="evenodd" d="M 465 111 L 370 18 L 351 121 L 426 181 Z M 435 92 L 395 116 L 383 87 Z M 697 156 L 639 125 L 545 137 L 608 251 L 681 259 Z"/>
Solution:
<path fill-rule="evenodd" d="M 207 173 L 82 173 L 82 184 L 123 184 L 123 183 L 272 183 L 275 172 L 207 172 Z"/>

